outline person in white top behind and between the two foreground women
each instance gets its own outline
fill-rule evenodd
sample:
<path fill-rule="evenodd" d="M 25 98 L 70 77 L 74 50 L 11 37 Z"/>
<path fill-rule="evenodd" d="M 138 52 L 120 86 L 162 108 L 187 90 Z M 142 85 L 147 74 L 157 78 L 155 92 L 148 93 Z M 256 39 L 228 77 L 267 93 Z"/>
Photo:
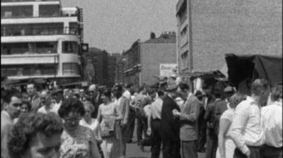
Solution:
<path fill-rule="evenodd" d="M 48 114 L 50 112 L 54 112 L 57 114 L 59 106 L 52 103 L 52 97 L 46 90 L 42 90 L 42 92 L 40 92 L 40 100 L 42 107 L 38 109 L 38 113 Z"/>

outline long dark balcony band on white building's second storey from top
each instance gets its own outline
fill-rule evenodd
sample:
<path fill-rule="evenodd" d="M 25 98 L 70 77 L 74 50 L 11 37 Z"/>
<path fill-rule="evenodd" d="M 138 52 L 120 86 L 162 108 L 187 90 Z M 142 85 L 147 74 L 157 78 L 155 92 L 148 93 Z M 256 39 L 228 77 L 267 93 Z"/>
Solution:
<path fill-rule="evenodd" d="M 1 28 L 2 36 L 30 36 L 30 35 L 79 35 L 79 28 L 47 27 L 47 28 Z"/>

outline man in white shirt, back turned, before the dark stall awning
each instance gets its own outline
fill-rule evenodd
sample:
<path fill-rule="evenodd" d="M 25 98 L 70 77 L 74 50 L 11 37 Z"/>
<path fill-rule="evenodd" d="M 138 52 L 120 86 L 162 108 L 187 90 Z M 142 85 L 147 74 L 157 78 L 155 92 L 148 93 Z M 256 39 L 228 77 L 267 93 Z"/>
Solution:
<path fill-rule="evenodd" d="M 251 97 L 235 109 L 231 124 L 231 138 L 235 142 L 234 158 L 260 157 L 260 146 L 265 142 L 265 130 L 261 117 L 261 105 L 266 104 L 270 86 L 266 80 L 257 79 L 250 87 Z"/>

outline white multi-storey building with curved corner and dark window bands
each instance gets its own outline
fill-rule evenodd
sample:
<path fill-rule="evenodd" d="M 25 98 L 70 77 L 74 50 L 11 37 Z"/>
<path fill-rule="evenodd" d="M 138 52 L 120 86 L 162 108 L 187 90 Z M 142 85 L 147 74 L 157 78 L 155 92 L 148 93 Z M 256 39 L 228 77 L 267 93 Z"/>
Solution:
<path fill-rule="evenodd" d="M 59 0 L 1 0 L 1 74 L 80 80 L 81 9 Z"/>

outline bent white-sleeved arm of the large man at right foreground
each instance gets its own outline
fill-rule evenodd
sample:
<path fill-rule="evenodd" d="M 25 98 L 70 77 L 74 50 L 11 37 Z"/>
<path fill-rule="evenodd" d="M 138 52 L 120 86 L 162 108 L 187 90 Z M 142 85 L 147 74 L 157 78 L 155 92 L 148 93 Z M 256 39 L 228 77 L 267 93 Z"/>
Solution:
<path fill-rule="evenodd" d="M 239 104 L 235 111 L 235 116 L 231 124 L 230 136 L 243 154 L 248 154 L 250 150 L 248 149 L 245 141 L 243 140 L 243 135 L 241 134 L 245 125 L 248 121 L 250 106 L 248 104 Z"/>

